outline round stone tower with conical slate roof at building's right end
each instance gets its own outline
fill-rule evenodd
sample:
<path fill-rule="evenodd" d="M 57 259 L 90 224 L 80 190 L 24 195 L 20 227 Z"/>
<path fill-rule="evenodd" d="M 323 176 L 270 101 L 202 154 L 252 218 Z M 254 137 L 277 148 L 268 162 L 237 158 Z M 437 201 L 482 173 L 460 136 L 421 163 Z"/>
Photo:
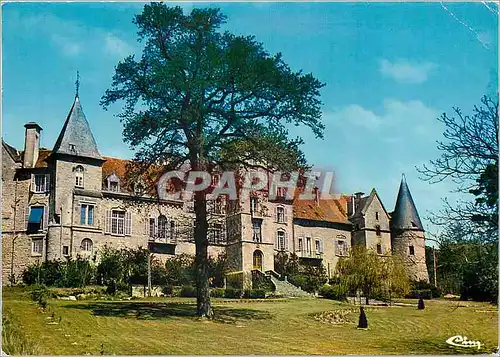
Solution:
<path fill-rule="evenodd" d="M 396 207 L 391 214 L 391 243 L 394 254 L 405 262 L 410 279 L 429 282 L 425 262 L 425 233 L 403 174 Z"/>

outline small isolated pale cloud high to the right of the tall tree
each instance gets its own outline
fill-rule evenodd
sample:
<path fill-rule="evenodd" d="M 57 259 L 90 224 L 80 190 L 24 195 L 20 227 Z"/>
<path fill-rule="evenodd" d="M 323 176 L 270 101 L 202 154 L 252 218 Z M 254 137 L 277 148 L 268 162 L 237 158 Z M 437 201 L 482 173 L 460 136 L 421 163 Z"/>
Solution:
<path fill-rule="evenodd" d="M 399 83 L 421 84 L 427 81 L 431 71 L 437 65 L 431 62 L 411 63 L 407 60 L 390 62 L 387 59 L 380 61 L 380 73 L 386 77 L 391 77 Z"/>

